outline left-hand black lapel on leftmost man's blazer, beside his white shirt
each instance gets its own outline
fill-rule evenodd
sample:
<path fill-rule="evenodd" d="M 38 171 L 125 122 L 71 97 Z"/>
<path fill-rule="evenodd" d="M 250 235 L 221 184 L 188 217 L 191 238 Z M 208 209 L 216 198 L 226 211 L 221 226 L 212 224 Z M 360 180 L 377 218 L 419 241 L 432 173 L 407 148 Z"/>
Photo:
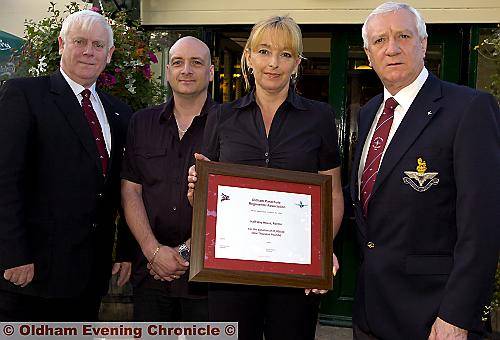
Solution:
<path fill-rule="evenodd" d="M 69 125 L 80 139 L 90 158 L 94 160 L 99 171 L 102 171 L 99 152 L 87 119 L 83 114 L 83 109 L 59 70 L 52 74 L 50 87 L 50 92 L 54 95 L 55 104 L 66 117 Z"/>

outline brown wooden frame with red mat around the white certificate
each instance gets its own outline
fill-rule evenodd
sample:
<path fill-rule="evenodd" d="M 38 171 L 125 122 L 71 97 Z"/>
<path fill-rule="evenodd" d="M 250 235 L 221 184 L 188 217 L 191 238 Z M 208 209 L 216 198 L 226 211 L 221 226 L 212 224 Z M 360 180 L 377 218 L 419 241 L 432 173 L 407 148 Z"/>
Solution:
<path fill-rule="evenodd" d="M 189 280 L 331 289 L 333 282 L 332 178 L 264 167 L 196 161 Z M 215 257 L 219 185 L 302 193 L 311 197 L 310 264 Z M 302 202 L 300 203 L 302 204 Z"/>

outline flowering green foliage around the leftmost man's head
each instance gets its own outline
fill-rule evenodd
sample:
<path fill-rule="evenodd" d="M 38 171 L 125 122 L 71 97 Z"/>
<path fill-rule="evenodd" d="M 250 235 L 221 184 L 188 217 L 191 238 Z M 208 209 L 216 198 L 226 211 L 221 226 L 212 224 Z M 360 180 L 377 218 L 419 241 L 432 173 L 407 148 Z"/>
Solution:
<path fill-rule="evenodd" d="M 63 11 L 66 15 L 79 10 L 72 2 Z M 96 8 L 92 10 L 98 11 Z M 49 16 L 34 22 L 25 22 L 25 45 L 17 58 L 18 76 L 40 76 L 51 74 L 59 67 L 57 38 L 66 17 L 51 2 Z M 101 73 L 97 85 L 106 92 L 121 98 L 134 110 L 161 103 L 165 88 L 154 80 L 151 64 L 158 60 L 154 54 L 159 46 L 138 22 L 130 22 L 125 12 L 105 13 L 113 29 L 115 52 L 111 63 Z"/>

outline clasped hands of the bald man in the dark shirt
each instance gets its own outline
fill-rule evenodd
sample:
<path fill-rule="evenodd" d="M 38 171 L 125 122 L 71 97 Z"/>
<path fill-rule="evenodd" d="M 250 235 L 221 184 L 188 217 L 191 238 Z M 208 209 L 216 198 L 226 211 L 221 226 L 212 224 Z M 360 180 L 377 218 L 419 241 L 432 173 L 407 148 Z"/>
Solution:
<path fill-rule="evenodd" d="M 148 264 L 149 273 L 155 280 L 172 281 L 181 277 L 189 267 L 179 253 L 167 246 L 160 246 L 152 264 Z"/>

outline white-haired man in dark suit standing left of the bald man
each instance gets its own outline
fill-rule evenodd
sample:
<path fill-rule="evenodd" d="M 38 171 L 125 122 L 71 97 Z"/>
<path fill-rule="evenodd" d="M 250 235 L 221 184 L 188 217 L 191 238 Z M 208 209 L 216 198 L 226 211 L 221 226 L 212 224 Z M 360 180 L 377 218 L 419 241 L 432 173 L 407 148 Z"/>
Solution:
<path fill-rule="evenodd" d="M 113 50 L 106 18 L 71 14 L 60 69 L 0 89 L 0 320 L 97 319 L 131 114 L 95 87 Z M 113 271 L 123 284 L 130 263 Z"/>

